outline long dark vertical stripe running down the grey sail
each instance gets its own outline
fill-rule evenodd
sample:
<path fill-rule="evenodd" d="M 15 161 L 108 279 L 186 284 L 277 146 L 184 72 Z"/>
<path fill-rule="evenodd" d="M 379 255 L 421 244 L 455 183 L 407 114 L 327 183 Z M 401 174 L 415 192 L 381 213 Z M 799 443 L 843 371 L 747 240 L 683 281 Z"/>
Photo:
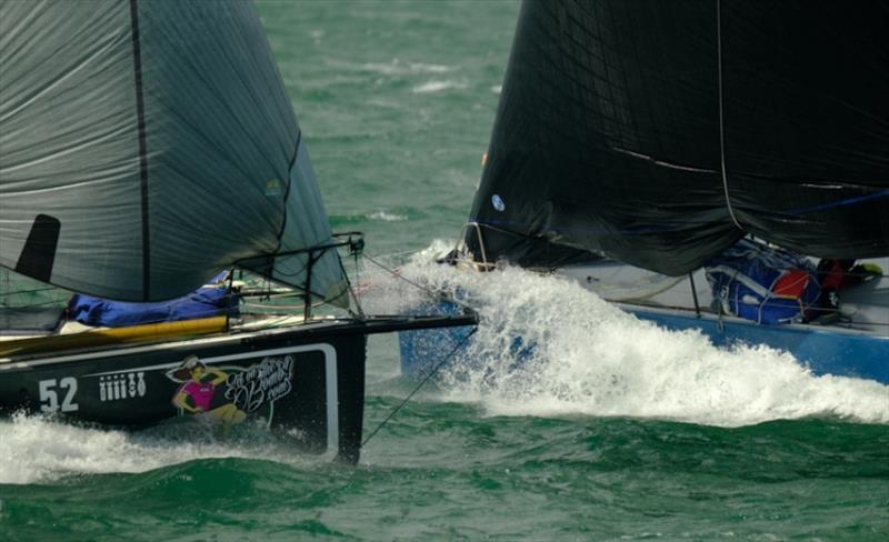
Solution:
<path fill-rule="evenodd" d="M 146 141 L 146 108 L 142 94 L 142 53 L 139 41 L 139 2 L 130 0 L 130 32 L 132 37 L 132 70 L 136 90 L 136 117 L 139 131 L 139 180 L 142 218 L 142 301 L 151 299 L 151 228 L 148 213 L 148 143 Z"/>

